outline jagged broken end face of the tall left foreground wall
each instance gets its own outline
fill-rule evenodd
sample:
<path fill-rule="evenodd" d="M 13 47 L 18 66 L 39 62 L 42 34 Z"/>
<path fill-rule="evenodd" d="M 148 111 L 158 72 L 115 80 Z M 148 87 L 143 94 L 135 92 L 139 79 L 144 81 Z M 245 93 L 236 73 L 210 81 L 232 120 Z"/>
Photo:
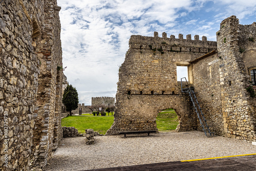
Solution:
<path fill-rule="evenodd" d="M 60 22 L 56 0 L 44 1 L 45 26 L 41 37 L 36 38 L 36 53 L 40 60 L 37 110 L 34 113 L 33 166 L 44 167 L 61 139 L 62 53 Z"/>

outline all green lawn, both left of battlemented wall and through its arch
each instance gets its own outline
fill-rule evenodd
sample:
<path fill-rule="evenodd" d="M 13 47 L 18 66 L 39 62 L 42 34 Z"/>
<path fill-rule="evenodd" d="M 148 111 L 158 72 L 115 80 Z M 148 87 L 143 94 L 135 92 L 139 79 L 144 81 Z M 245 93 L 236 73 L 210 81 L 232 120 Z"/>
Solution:
<path fill-rule="evenodd" d="M 163 110 L 156 118 L 157 129 L 160 132 L 170 132 L 175 130 L 179 124 L 178 117 L 173 109 Z M 62 126 L 74 126 L 78 133 L 84 133 L 86 129 L 105 134 L 114 122 L 114 116 L 93 116 L 92 114 L 82 114 L 84 116 L 68 116 L 61 120 Z M 111 113 L 110 113 L 111 115 Z M 86 117 L 88 116 L 88 117 Z"/>

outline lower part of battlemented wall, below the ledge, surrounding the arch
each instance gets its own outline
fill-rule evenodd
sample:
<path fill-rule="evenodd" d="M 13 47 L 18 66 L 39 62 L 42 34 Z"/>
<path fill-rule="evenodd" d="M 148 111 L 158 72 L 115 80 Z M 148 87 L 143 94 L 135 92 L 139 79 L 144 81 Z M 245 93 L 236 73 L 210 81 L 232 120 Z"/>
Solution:
<path fill-rule="evenodd" d="M 124 94 L 118 97 L 114 123 L 106 135 L 120 131 L 157 130 L 156 118 L 159 111 L 173 106 L 179 118 L 178 131 L 197 128 L 197 119 L 191 111 L 190 101 L 185 95 L 136 95 Z"/>

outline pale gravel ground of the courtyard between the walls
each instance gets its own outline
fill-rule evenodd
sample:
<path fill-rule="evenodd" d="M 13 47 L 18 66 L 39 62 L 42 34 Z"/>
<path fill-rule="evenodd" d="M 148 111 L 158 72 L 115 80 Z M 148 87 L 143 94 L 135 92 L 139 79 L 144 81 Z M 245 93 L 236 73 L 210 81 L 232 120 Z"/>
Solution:
<path fill-rule="evenodd" d="M 256 145 L 203 132 L 63 138 L 46 170 L 87 170 L 256 153 Z"/>

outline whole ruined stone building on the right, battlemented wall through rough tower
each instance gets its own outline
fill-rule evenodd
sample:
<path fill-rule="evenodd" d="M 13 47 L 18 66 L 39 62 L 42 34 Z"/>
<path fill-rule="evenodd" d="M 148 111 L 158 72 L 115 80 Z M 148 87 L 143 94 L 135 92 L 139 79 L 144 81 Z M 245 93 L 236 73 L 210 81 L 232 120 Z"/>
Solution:
<path fill-rule="evenodd" d="M 178 38 L 133 35 L 119 69 L 114 123 L 119 131 L 157 130 L 157 114 L 173 108 L 177 131 L 200 130 L 187 94 L 177 81 L 177 66 L 187 66 L 210 130 L 217 135 L 256 141 L 255 97 L 246 87 L 255 84 L 256 23 L 240 25 L 231 16 L 220 25 L 216 41 L 195 35 Z"/>

